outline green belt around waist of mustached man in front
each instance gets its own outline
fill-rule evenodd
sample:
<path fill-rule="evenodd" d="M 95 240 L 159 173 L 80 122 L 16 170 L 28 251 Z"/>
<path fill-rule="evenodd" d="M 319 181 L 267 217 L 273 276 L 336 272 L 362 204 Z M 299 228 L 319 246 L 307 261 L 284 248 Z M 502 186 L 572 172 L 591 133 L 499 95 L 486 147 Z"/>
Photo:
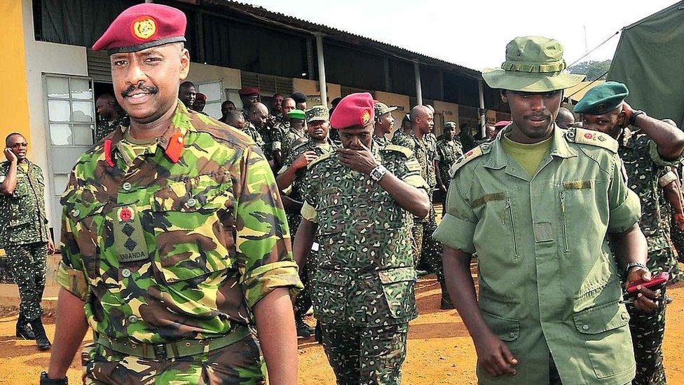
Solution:
<path fill-rule="evenodd" d="M 95 333 L 95 342 L 106 348 L 127 356 L 140 358 L 178 358 L 196 356 L 216 349 L 224 348 L 247 337 L 252 332 L 247 326 L 239 325 L 230 334 L 217 338 L 181 339 L 166 344 L 144 344 L 132 339 L 112 339 Z"/>

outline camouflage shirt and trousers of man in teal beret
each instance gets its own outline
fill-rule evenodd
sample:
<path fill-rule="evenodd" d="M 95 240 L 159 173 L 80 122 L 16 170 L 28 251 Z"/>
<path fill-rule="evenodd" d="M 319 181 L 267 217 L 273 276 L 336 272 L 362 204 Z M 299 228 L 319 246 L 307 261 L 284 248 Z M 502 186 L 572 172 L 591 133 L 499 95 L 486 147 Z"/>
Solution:
<path fill-rule="evenodd" d="M 648 267 L 653 273 L 667 271 L 671 281 L 680 281 L 682 273 L 669 239 L 669 221 L 661 217 L 662 189 L 659 177 L 666 173 L 667 166 L 676 166 L 677 161 L 664 161 L 657 150 L 657 144 L 648 135 L 632 134 L 620 137 L 618 153 L 627 170 L 627 185 L 641 200 L 642 215 L 639 225 L 648 243 Z M 662 296 L 665 295 L 662 290 Z M 642 313 L 627 306 L 631 319 L 629 327 L 634 342 L 636 378 L 633 384 L 660 384 L 665 382 L 662 365 L 662 339 L 665 331 L 665 305 L 652 313 Z"/>

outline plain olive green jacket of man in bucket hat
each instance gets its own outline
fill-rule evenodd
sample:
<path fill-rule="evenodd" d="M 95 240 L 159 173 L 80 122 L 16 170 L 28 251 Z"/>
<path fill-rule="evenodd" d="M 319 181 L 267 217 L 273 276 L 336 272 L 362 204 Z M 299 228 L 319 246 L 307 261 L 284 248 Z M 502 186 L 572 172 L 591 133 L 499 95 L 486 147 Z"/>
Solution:
<path fill-rule="evenodd" d="M 514 377 L 478 370 L 481 383 L 547 383 L 551 357 L 564 383 L 630 381 L 629 315 L 605 239 L 634 225 L 639 203 L 615 140 L 556 127 L 533 177 L 500 139 L 451 172 L 435 238 L 477 252 L 482 316 L 519 362 Z"/>

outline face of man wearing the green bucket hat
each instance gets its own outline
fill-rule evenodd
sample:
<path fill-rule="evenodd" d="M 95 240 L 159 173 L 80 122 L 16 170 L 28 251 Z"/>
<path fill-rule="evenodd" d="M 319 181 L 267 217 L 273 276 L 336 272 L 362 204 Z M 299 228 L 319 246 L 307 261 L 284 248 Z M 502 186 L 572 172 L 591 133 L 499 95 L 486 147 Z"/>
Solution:
<path fill-rule="evenodd" d="M 507 91 L 501 99 L 511 109 L 513 123 L 523 135 L 532 140 L 542 140 L 553 130 L 556 114 L 561 107 L 563 91 L 547 93 L 524 93 Z"/>

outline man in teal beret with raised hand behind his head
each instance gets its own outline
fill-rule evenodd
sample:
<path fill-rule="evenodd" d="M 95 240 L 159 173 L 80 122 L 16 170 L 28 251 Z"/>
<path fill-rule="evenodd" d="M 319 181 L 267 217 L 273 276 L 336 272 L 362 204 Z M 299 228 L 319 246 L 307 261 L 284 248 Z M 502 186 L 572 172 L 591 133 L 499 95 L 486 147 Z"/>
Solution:
<path fill-rule="evenodd" d="M 634 111 L 624 102 L 627 95 L 629 90 L 624 84 L 608 81 L 589 90 L 575 106 L 575 112 L 582 114 L 584 128 L 608 133 L 620 143 L 618 154 L 627 170 L 627 185 L 641 199 L 639 225 L 648 243 L 648 268 L 652 273 L 670 273 L 670 283 L 674 283 L 680 281 L 682 273 L 669 239 L 669 220 L 660 215 L 659 179 L 666 174 L 667 166 L 681 163 L 684 133 L 644 112 Z M 661 295 L 665 296 L 665 288 Z M 633 384 L 666 382 L 662 363 L 666 304 L 658 304 L 657 310 L 648 314 L 627 306 L 636 358 Z"/>

